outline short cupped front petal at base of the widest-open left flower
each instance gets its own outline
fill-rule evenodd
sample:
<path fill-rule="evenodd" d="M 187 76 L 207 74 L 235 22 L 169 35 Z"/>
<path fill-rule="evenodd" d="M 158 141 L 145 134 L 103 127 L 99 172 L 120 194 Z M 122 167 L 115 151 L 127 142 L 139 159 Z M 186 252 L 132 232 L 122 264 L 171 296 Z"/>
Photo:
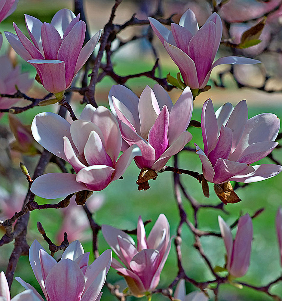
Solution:
<path fill-rule="evenodd" d="M 76 181 L 85 183 L 87 190 L 100 191 L 110 184 L 114 170 L 106 165 L 87 166 L 77 173 Z"/>

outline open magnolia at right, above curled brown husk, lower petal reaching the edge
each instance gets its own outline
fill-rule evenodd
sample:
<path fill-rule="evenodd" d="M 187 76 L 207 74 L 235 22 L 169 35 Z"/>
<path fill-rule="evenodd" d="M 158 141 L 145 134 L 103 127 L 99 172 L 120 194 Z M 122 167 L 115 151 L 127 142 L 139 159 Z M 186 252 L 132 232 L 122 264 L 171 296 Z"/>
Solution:
<path fill-rule="evenodd" d="M 204 151 L 196 146 L 207 181 L 222 184 L 228 181 L 250 183 L 262 181 L 282 171 L 276 164 L 251 166 L 267 156 L 278 144 L 280 120 L 275 114 L 263 113 L 248 119 L 246 101 L 235 108 L 224 104 L 214 113 L 208 99 L 201 116 Z"/>

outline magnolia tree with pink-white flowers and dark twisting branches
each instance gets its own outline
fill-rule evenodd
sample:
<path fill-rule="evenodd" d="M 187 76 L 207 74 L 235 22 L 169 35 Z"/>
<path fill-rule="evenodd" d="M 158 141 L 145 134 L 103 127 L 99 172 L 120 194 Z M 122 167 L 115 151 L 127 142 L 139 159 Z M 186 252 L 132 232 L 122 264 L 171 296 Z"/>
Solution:
<path fill-rule="evenodd" d="M 17 2 L 0 1 L 0 21 L 14 12 Z M 206 15 L 202 26 L 199 26 L 197 14 L 195 15 L 190 8 L 178 19 L 175 15 L 167 19 L 162 18 L 166 12 L 161 9 L 161 1 L 158 2 L 155 13 L 148 19 L 138 19 L 134 14 L 125 23 L 117 24 L 115 14 L 121 0 L 116 0 L 109 21 L 93 37 L 90 37 L 88 32 L 83 1 L 75 0 L 74 4 L 75 13 L 62 8 L 54 15 L 51 23 L 42 23 L 36 17 L 26 14 L 24 32 L 27 31 L 28 36 L 15 23 L 15 34 L 7 31 L 5 36 L 0 35 L 0 44 L 2 45 L 3 39 L 7 39 L 8 42 L 5 43 L 9 43 L 24 61 L 35 68 L 35 79 L 48 92 L 43 98 L 28 96 L 33 80 L 20 72 L 20 66 L 15 66 L 15 59 L 11 55 L 0 57 L 0 112 L 1 116 L 9 115 L 9 126 L 16 139 L 10 144 L 10 158 L 18 156 L 19 159 L 19 154 L 40 155 L 34 171 L 28 170 L 23 163 L 20 163 L 17 171 L 20 172 L 21 169 L 27 179 L 29 189 L 25 197 L 20 195 L 19 188 L 15 188 L 12 195 L 9 195 L 4 187 L 1 188 L 0 246 L 14 242 L 14 249 L 11 255 L 1 251 L 1 256 L 7 259 L 7 269 L 5 273 L 0 273 L 0 299 L 10 301 L 11 285 L 14 275 L 17 275 L 17 263 L 20 256 L 28 255 L 42 291 L 29 284 L 29 278 L 15 277 L 25 290 L 13 296 L 13 300 L 99 301 L 101 290 L 106 285 L 113 298 L 120 301 L 129 296 L 146 296 L 151 300 L 155 298 L 155 294 L 162 294 L 163 298 L 170 300 L 207 301 L 219 300 L 220 286 L 226 283 L 237 287 L 238 290 L 249 287 L 261 292 L 261 296 L 265 294 L 274 300 L 282 300 L 281 296 L 272 291 L 272 286 L 282 281 L 282 276 L 275 278 L 275 275 L 269 275 L 272 278 L 271 282 L 263 286 L 237 279 L 248 271 L 252 240 L 256 239 L 253 235 L 252 219 L 258 216 L 262 209 L 254 208 L 250 214 L 242 213 L 231 225 L 219 215 L 220 232 L 198 228 L 200 208 L 219 210 L 222 213 L 226 213 L 227 209 L 232 211 L 232 203 L 241 201 L 235 192 L 237 188 L 267 180 L 282 171 L 282 166 L 271 153 L 278 145 L 277 139 L 281 138 L 279 118 L 273 113 L 262 112 L 248 119 L 246 101 L 238 101 L 235 107 L 229 102 L 222 102 L 215 111 L 209 98 L 202 107 L 201 120 L 191 120 L 193 105 L 197 102 L 198 95 L 205 92 L 208 98 L 208 90 L 212 91 L 216 85 L 224 87 L 223 75 L 230 71 L 239 88 L 247 86 L 272 92 L 267 88 L 268 81 L 271 80 L 271 71 L 268 70 L 267 64 L 264 67 L 261 63 L 265 57 L 262 56 L 261 61 L 253 57 L 260 58 L 259 55 L 264 50 L 277 50 L 282 14 L 280 1 L 208 1 L 204 6 L 202 2 L 196 3 L 198 6 L 194 3 L 192 7 L 195 13 L 198 14 L 202 10 Z M 179 9 L 183 12 L 183 8 L 179 6 Z M 242 27 L 238 29 L 240 22 Z M 146 25 L 147 33 L 118 43 L 118 34 L 133 25 Z M 158 51 L 154 48 L 152 40 L 161 41 L 165 51 L 179 68 L 176 77 L 170 74 L 164 78 L 157 77 L 155 71 L 159 67 L 158 59 L 152 70 L 147 72 L 127 76 L 115 73 L 112 54 L 132 40 L 141 38 L 151 43 L 155 53 Z M 94 55 L 94 48 L 99 42 Z M 276 45 L 276 49 L 273 45 Z M 232 55 L 222 56 L 218 53 L 219 46 Z M 281 55 L 279 49 L 277 53 Z M 215 60 L 215 57 L 219 58 Z M 213 68 L 221 64 L 231 67 L 220 73 L 219 79 L 211 80 Z M 265 74 L 265 81 L 261 86 L 251 86 L 244 82 L 248 75 L 252 76 L 254 70 Z M 96 86 L 106 76 L 116 83 L 109 90 L 110 109 L 98 106 L 95 98 Z M 125 84 L 128 79 L 139 76 L 146 76 L 156 83 L 154 86 L 144 87 L 141 95 L 137 96 Z M 168 92 L 172 89 L 180 91 L 178 99 L 171 99 Z M 79 118 L 70 104 L 70 97 L 75 92 L 81 95 L 81 106 L 84 107 Z M 19 98 L 30 101 L 30 104 L 24 107 L 14 106 Z M 34 107 L 54 104 L 60 105 L 58 113 L 43 112 L 34 116 Z M 23 125 L 15 117 L 15 114 L 26 110 L 34 114 L 31 125 Z M 192 126 L 201 128 L 204 147 L 200 148 L 198 145 L 202 142 L 194 139 L 189 132 Z M 182 169 L 178 164 L 180 152 L 197 154 L 195 160 L 201 162 L 202 173 Z M 265 157 L 269 157 L 275 164 L 253 164 Z M 173 166 L 168 166 L 171 158 Z M 7 171 L 8 176 L 9 159 L 6 161 L 8 163 L 6 162 L 3 169 Z M 27 162 L 31 161 L 32 159 L 29 159 Z M 150 221 L 143 222 L 142 212 L 138 213 L 140 216 L 136 220 L 136 229 L 131 231 L 115 228 L 115 225 L 99 225 L 93 219 L 93 212 L 104 200 L 104 195 L 93 194 L 93 191 L 106 189 L 106 195 L 107 186 L 123 179 L 132 161 L 140 169 L 139 175 L 136 174 L 136 193 L 143 193 L 138 192 L 137 188 L 139 191 L 148 190 L 150 185 L 155 183 L 152 180 L 161 182 L 159 173 L 173 172 L 173 189 L 179 212 L 179 223 L 174 235 L 170 231 L 171 221 L 161 213 L 161 203 L 160 214 L 149 235 L 146 235 L 145 226 Z M 55 163 L 61 172 L 44 173 L 49 162 Z M 29 166 L 28 168 L 31 169 Z M 182 184 L 182 176 L 197 179 L 201 183 L 199 189 L 202 189 L 205 197 L 209 197 L 209 187 L 213 185 L 214 192 L 220 199 L 219 203 L 199 203 L 186 191 Z M 132 179 L 132 185 L 135 185 L 134 182 Z M 120 185 L 123 185 L 122 181 Z M 256 185 L 259 184 L 252 184 L 252 188 L 256 189 Z M 127 198 L 127 187 L 124 186 L 122 190 L 123 197 Z M 193 222 L 184 209 L 182 195 L 192 206 Z M 35 196 L 61 200 L 55 204 L 47 201 L 39 204 L 35 201 Z M 275 203 L 275 206 L 282 263 L 282 211 L 279 204 Z M 30 212 L 47 208 L 65 208 L 60 209 L 63 211 L 62 222 L 58 221 L 56 225 L 57 241 L 62 241 L 58 245 L 48 237 L 47 228 L 45 233 L 44 214 L 38 222 L 40 234 L 29 232 L 28 229 Z M 43 212 L 44 210 L 41 211 Z M 187 244 L 187 241 L 182 242 L 181 239 L 183 225 L 187 225 L 194 236 L 194 247 L 210 273 L 210 277 L 204 281 L 195 280 L 183 267 L 184 261 L 191 260 L 186 254 L 182 256 L 181 252 L 182 244 Z M 87 228 L 92 230 L 91 237 L 85 232 Z M 235 238 L 231 233 L 233 228 L 237 228 Z M 109 244 L 109 249 L 101 254 L 97 242 L 100 231 Z M 50 254 L 35 239 L 39 239 L 40 235 L 48 243 Z M 209 236 L 211 244 L 216 237 L 222 239 L 222 245 L 224 243 L 226 249 L 223 266 L 216 265 L 216 262 L 206 255 L 201 244 L 203 236 Z M 91 264 L 90 253 L 84 253 L 81 243 L 77 240 L 90 238 L 96 258 Z M 29 240 L 33 241 L 31 246 L 27 242 Z M 167 287 L 157 288 L 172 245 L 177 256 L 174 274 L 170 275 L 170 284 Z M 60 250 L 63 250 L 63 253 L 55 256 Z M 111 250 L 119 260 L 112 258 Z M 220 252 L 224 256 L 224 251 Z M 196 260 L 193 264 L 193 268 L 197 269 Z M 126 289 L 106 282 L 110 267 L 125 280 Z M 187 295 L 185 282 L 192 284 L 194 290 Z"/>

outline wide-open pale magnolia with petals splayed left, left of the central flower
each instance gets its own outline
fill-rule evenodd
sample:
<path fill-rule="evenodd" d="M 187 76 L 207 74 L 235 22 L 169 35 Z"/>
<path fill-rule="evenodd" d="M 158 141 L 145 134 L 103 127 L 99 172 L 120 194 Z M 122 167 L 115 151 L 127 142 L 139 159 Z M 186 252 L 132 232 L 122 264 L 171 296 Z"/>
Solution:
<path fill-rule="evenodd" d="M 36 178 L 31 191 L 47 199 L 81 190 L 100 191 L 120 178 L 133 157 L 141 152 L 131 145 L 121 151 L 121 132 L 115 116 L 91 104 L 72 124 L 54 113 L 40 113 L 32 121 L 34 139 L 54 155 L 69 162 L 76 172 L 48 173 Z"/>

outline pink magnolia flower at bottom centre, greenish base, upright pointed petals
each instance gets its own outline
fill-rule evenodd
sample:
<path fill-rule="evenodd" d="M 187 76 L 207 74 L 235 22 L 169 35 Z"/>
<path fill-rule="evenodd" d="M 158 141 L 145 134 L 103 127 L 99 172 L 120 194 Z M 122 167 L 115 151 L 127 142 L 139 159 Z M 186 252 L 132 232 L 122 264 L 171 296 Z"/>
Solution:
<path fill-rule="evenodd" d="M 121 274 L 134 296 L 151 292 L 160 281 L 160 274 L 171 247 L 170 227 L 164 214 L 160 214 L 148 238 L 141 216 L 137 224 L 137 247 L 131 236 L 108 225 L 102 225 L 102 233 L 124 263 L 112 260 L 112 268 Z"/>

